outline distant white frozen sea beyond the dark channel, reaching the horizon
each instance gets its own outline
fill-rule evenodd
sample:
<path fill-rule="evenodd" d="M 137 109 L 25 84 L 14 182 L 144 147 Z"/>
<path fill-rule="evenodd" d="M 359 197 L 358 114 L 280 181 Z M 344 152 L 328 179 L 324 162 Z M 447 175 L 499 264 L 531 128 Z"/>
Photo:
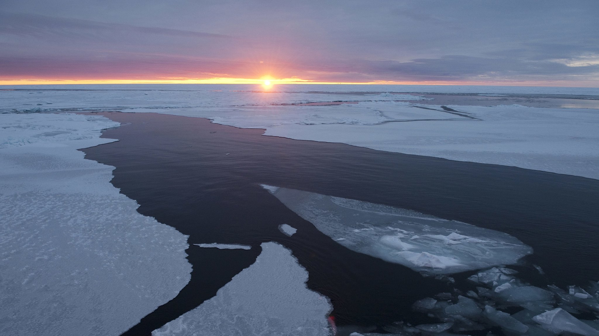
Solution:
<path fill-rule="evenodd" d="M 4 85 L 0 112 L 158 112 L 265 129 L 268 136 L 599 179 L 596 108 L 441 106 L 430 105 L 434 100 L 422 93 L 599 100 L 597 88 L 558 87 L 277 85 L 262 91 L 259 85 Z M 352 103 L 297 105 L 310 102 Z"/>

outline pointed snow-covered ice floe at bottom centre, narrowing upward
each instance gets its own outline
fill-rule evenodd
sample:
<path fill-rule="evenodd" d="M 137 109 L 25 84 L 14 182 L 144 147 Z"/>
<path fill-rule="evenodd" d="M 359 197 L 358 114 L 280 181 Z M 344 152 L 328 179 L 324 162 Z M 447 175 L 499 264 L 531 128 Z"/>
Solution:
<path fill-rule="evenodd" d="M 153 336 L 330 335 L 328 298 L 306 288 L 308 272 L 291 251 L 262 243 L 256 262 L 216 296 L 181 315 Z"/>

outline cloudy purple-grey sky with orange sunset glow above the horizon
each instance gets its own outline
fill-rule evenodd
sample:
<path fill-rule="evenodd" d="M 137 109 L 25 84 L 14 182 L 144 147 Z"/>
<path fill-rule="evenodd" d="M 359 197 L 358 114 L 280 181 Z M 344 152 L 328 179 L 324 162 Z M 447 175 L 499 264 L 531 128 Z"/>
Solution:
<path fill-rule="evenodd" d="M 599 87 L 599 1 L 0 0 L 0 84 Z"/>

